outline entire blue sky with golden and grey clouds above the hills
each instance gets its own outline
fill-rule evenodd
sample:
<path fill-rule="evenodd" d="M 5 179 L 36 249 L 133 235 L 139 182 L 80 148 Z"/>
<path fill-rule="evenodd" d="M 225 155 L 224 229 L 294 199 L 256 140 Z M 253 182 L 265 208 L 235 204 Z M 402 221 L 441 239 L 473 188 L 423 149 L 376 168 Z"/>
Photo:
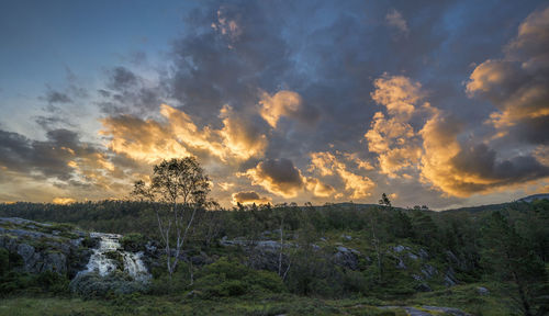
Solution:
<path fill-rule="evenodd" d="M 549 192 L 546 1 L 0 1 L 0 202 L 433 210 Z"/>

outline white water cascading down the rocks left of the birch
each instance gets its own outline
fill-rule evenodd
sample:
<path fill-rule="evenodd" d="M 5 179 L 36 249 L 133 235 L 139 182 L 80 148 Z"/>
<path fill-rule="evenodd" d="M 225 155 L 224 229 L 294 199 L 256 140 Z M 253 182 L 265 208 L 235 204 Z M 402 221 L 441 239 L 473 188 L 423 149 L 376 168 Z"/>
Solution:
<path fill-rule="evenodd" d="M 128 252 L 122 250 L 119 239 L 122 235 L 117 234 L 103 234 L 91 233 L 90 237 L 100 238 L 99 248 L 93 249 L 90 261 L 86 266 L 86 270 L 80 273 L 98 272 L 100 275 L 105 276 L 116 270 L 116 262 L 107 257 L 107 252 L 119 252 L 124 261 L 124 271 L 132 278 L 138 281 L 146 281 L 150 279 L 147 268 L 143 263 L 143 251 Z"/>

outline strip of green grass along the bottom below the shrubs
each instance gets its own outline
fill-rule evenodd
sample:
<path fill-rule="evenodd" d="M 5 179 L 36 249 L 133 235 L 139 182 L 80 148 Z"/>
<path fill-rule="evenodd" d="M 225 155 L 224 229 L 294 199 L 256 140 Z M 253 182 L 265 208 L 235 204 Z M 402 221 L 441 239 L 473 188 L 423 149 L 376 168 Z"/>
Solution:
<path fill-rule="evenodd" d="M 478 286 L 490 290 L 479 295 Z M 403 308 L 382 306 L 457 307 L 472 315 L 513 315 L 512 302 L 501 296 L 495 284 L 468 284 L 416 294 L 405 301 L 370 297 L 321 300 L 292 294 L 245 295 L 216 300 L 181 296 L 131 294 L 110 300 L 82 300 L 71 296 L 12 296 L 0 302 L 0 315 L 407 315 Z M 428 312 L 432 315 L 445 315 Z"/>

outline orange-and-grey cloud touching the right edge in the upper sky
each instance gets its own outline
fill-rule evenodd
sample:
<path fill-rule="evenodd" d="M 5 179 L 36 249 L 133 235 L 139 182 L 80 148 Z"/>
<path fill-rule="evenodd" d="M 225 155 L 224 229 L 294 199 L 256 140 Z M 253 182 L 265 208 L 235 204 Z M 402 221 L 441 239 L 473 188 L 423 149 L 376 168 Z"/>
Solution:
<path fill-rule="evenodd" d="M 517 36 L 505 47 L 505 57 L 477 66 L 467 83 L 470 97 L 481 95 L 496 108 L 486 121 L 498 129 L 528 129 L 549 124 L 549 8 L 528 15 Z M 530 137 L 531 138 L 531 137 Z"/>

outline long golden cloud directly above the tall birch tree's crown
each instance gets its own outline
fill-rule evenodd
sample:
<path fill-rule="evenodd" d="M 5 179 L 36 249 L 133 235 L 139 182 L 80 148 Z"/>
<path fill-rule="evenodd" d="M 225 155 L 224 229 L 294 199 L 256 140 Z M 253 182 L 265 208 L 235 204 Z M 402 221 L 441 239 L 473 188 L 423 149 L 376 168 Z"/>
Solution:
<path fill-rule="evenodd" d="M 130 115 L 107 117 L 101 121 L 100 134 L 110 138 L 108 147 L 114 153 L 148 163 L 195 153 L 224 162 L 245 160 L 262 156 L 267 147 L 266 136 L 238 119 L 229 106 L 221 110 L 221 129 L 199 128 L 188 114 L 166 104 L 160 105 L 160 114 L 166 122 Z"/>

